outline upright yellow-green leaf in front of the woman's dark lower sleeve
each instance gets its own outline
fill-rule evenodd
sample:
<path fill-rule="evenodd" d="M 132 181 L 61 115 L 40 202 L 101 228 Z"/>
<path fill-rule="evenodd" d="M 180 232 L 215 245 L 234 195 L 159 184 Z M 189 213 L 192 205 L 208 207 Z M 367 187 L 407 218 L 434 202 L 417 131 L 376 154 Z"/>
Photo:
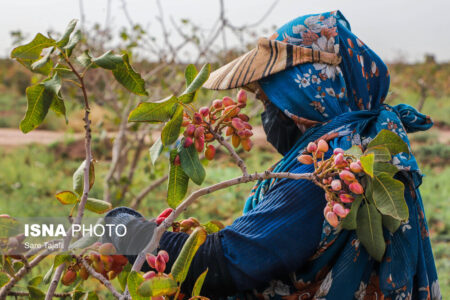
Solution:
<path fill-rule="evenodd" d="M 172 266 L 172 275 L 179 284 L 183 283 L 183 281 L 186 279 L 192 259 L 194 258 L 198 248 L 200 248 L 205 240 L 205 229 L 203 229 L 202 227 L 197 227 L 184 243 L 180 254 L 178 255 Z"/>

